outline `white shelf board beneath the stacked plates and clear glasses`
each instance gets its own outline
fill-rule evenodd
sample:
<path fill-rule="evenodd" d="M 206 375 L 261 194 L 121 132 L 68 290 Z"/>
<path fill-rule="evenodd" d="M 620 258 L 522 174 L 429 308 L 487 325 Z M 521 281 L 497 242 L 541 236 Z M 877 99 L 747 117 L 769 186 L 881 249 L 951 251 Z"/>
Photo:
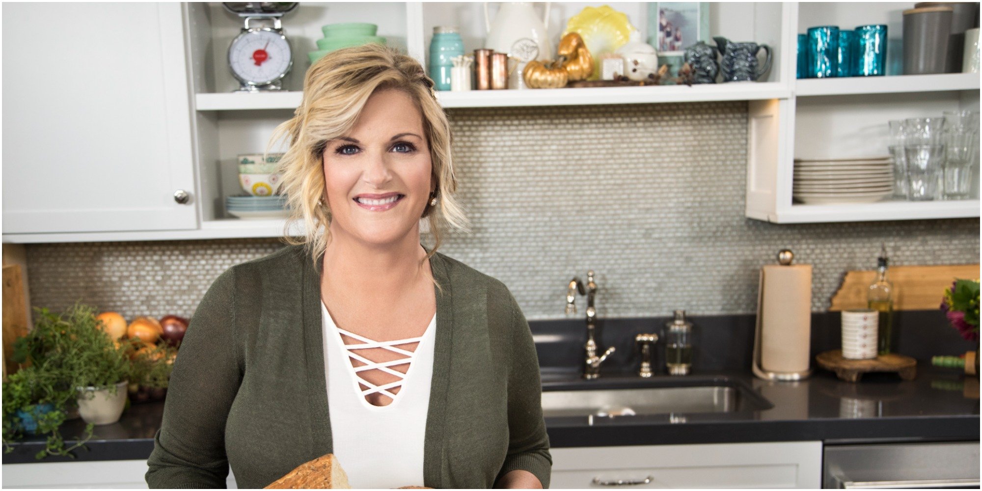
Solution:
<path fill-rule="evenodd" d="M 958 201 L 880 201 L 855 204 L 793 204 L 766 217 L 752 217 L 772 223 L 870 222 L 924 220 L 937 218 L 977 218 L 979 200 Z"/>

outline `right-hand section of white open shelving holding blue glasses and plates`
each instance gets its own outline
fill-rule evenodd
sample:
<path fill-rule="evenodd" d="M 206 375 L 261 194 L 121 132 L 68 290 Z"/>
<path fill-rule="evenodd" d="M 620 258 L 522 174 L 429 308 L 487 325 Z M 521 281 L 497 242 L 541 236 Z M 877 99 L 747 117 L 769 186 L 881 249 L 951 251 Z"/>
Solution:
<path fill-rule="evenodd" d="M 901 66 L 900 14 L 909 7 L 899 2 L 793 4 L 796 28 L 786 41 L 795 42 L 798 32 L 813 26 L 886 24 L 888 74 L 896 74 Z M 749 108 L 749 218 L 791 224 L 979 216 L 978 162 L 970 199 L 809 205 L 793 202 L 791 196 L 795 158 L 887 155 L 891 120 L 978 111 L 978 74 L 796 80 L 790 98 L 750 101 Z"/>

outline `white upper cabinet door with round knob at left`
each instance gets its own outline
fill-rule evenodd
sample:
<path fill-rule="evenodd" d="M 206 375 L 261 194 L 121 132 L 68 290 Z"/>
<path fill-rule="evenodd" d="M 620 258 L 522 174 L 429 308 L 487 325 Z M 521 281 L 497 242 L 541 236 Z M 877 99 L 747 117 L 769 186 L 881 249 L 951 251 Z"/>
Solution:
<path fill-rule="evenodd" d="M 196 229 L 182 6 L 15 3 L 4 14 L 5 240 Z"/>

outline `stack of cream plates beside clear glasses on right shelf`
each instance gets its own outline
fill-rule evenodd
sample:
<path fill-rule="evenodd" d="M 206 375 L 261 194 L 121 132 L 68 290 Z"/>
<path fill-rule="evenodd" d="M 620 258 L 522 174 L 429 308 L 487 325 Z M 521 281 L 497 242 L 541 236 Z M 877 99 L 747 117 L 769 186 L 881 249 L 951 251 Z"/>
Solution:
<path fill-rule="evenodd" d="M 791 194 L 803 203 L 871 203 L 893 193 L 890 156 L 794 160 Z"/>

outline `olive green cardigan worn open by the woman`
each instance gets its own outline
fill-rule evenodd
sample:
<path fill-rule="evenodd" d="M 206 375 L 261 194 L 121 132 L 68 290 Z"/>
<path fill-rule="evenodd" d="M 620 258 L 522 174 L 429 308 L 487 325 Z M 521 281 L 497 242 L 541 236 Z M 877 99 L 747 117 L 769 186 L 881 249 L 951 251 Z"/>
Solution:
<path fill-rule="evenodd" d="M 524 469 L 548 487 L 538 357 L 518 304 L 504 284 L 460 261 L 436 253 L 430 266 L 442 291 L 424 484 L 490 488 Z M 147 461 L 151 488 L 224 488 L 230 464 L 240 488 L 262 488 L 331 453 L 320 299 L 320 275 L 302 246 L 215 280 L 174 365 Z M 366 429 L 365 438 L 385 435 Z"/>

